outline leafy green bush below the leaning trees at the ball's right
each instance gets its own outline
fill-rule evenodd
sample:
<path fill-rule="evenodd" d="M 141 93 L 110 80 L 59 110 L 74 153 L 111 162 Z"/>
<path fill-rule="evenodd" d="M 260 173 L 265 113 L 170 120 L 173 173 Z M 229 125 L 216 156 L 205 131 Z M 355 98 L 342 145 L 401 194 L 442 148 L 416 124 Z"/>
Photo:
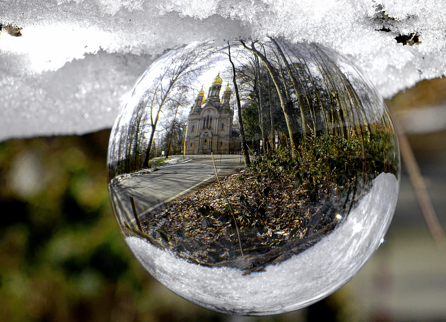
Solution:
<path fill-rule="evenodd" d="M 289 146 L 282 146 L 273 155 L 254 162 L 248 173 L 276 179 L 293 176 L 298 185 L 350 181 L 359 176 L 369 181 L 381 172 L 398 176 L 398 155 L 393 132 L 374 126 L 363 138 L 356 133 L 348 139 L 333 134 L 312 135 L 297 146 L 295 159 Z"/>

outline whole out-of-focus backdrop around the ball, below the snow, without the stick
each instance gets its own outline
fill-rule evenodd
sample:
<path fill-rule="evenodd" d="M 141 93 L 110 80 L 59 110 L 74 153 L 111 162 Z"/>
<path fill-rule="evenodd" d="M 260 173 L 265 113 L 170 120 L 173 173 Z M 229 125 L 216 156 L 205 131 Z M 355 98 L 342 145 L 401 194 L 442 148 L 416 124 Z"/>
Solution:
<path fill-rule="evenodd" d="M 387 101 L 446 227 L 446 78 Z M 404 166 L 384 243 L 330 297 L 288 314 L 202 309 L 145 271 L 107 194 L 110 130 L 0 143 L 0 321 L 446 321 L 446 250 L 429 235 Z"/>

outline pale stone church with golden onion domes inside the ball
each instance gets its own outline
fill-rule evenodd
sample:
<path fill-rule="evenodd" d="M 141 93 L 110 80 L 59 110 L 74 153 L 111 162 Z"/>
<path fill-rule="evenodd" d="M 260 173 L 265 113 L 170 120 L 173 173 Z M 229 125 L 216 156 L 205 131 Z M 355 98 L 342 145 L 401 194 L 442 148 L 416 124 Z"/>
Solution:
<path fill-rule="evenodd" d="M 207 99 L 203 89 L 191 107 L 186 130 L 185 154 L 229 154 L 240 151 L 240 137 L 233 136 L 234 110 L 229 105 L 229 86 L 220 99 L 223 80 L 220 74 L 209 88 Z"/>

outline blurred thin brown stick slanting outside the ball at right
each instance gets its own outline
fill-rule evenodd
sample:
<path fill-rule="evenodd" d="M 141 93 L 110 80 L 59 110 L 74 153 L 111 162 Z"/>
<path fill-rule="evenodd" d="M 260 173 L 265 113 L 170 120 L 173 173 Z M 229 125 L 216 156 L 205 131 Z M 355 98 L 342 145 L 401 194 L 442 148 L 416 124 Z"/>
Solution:
<path fill-rule="evenodd" d="M 446 235 L 442 226 L 438 222 L 438 217 L 435 214 L 434 207 L 432 206 L 429 194 L 427 193 L 426 185 L 423 177 L 421 176 L 420 167 L 415 159 L 415 155 L 413 155 L 409 141 L 407 140 L 398 118 L 393 116 L 392 119 L 396 134 L 398 135 L 398 141 L 400 143 L 401 157 L 403 158 L 406 170 L 409 173 L 409 179 L 412 183 L 415 197 L 417 197 L 421 213 L 423 214 L 430 234 L 432 234 L 438 248 L 443 248 L 446 244 Z"/>

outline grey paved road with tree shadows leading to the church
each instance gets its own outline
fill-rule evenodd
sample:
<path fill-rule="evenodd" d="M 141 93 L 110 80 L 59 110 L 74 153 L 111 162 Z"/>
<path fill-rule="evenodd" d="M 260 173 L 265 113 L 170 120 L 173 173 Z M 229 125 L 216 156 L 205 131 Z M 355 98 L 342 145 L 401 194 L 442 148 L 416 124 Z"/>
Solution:
<path fill-rule="evenodd" d="M 189 157 L 192 157 L 189 155 Z M 136 212 L 143 217 L 154 207 L 182 194 L 217 180 L 211 155 L 194 155 L 193 160 L 160 167 L 153 173 L 134 176 L 115 184 L 110 189 L 116 214 L 121 223 L 133 218 L 130 196 L 135 199 Z M 219 177 L 229 176 L 244 168 L 240 155 L 215 155 Z"/>

